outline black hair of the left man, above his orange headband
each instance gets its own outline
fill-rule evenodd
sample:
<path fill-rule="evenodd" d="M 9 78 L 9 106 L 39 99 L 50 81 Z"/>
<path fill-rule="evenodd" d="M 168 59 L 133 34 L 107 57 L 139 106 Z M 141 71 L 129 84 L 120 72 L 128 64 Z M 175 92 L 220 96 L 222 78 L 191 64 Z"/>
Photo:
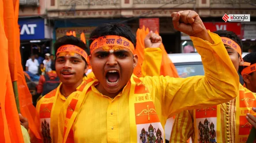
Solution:
<path fill-rule="evenodd" d="M 85 50 L 87 55 L 90 55 L 89 47 L 85 43 L 83 43 L 83 41 L 81 41 L 77 37 L 74 37 L 74 36 L 63 36 L 63 37 L 60 37 L 59 39 L 56 40 L 56 43 L 54 43 L 54 50 L 57 51 L 60 48 L 60 46 L 63 46 L 63 45 L 75 45 L 75 46 L 78 46 L 81 49 Z M 88 64 L 86 59 L 83 58 L 83 61 L 85 61 L 85 63 Z"/>

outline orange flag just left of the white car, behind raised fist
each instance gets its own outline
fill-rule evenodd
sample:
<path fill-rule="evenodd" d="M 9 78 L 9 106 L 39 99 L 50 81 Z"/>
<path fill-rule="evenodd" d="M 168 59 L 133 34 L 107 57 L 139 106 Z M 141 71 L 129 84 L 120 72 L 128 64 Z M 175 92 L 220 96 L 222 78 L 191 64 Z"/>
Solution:
<path fill-rule="evenodd" d="M 157 31 L 155 33 L 159 35 Z M 169 58 L 164 45 L 161 44 L 160 48 L 163 51 L 160 74 L 164 76 L 169 75 L 170 77 L 178 78 L 179 74 L 177 72 L 177 69 L 175 68 L 175 65 Z"/>

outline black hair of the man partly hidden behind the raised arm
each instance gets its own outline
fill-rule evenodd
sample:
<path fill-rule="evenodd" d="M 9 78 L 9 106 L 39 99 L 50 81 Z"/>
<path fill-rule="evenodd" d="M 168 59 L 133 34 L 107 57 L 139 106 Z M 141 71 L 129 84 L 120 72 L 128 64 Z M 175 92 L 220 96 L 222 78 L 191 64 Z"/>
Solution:
<path fill-rule="evenodd" d="M 243 52 L 243 45 L 241 39 L 232 31 L 227 31 L 227 30 L 218 30 L 214 32 L 215 34 L 218 34 L 220 37 L 227 37 L 233 41 L 235 41 L 240 47 L 241 47 L 241 52 Z M 240 57 L 240 55 L 238 54 Z"/>

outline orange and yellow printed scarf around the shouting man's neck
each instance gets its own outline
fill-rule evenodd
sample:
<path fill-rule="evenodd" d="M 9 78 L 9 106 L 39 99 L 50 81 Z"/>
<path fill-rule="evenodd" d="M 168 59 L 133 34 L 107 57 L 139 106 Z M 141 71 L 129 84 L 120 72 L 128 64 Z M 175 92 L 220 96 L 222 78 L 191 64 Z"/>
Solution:
<path fill-rule="evenodd" d="M 64 112 L 59 117 L 64 118 L 63 143 L 75 143 L 72 126 L 87 98 L 87 90 L 96 82 L 98 80 L 95 77 L 88 79 L 82 92 L 77 91 L 66 100 L 62 110 Z M 129 93 L 130 142 L 155 143 L 157 140 L 164 142 L 164 129 L 147 87 L 135 75 L 132 75 L 128 84 L 131 84 Z"/>

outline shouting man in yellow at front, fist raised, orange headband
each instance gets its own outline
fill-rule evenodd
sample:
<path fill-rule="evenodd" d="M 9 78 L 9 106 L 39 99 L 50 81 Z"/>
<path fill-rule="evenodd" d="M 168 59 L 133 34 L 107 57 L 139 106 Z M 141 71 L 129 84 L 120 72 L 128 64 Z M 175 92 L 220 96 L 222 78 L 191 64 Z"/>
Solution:
<path fill-rule="evenodd" d="M 220 37 L 205 29 L 195 11 L 175 12 L 172 17 L 175 29 L 191 36 L 205 76 L 137 78 L 132 75 L 137 55 L 131 29 L 123 24 L 101 25 L 90 35 L 95 78 L 64 103 L 58 122 L 60 143 L 155 143 L 165 139 L 167 118 L 238 95 L 239 77 Z M 146 50 L 162 54 L 161 43 L 161 37 L 151 32 L 145 39 Z"/>

